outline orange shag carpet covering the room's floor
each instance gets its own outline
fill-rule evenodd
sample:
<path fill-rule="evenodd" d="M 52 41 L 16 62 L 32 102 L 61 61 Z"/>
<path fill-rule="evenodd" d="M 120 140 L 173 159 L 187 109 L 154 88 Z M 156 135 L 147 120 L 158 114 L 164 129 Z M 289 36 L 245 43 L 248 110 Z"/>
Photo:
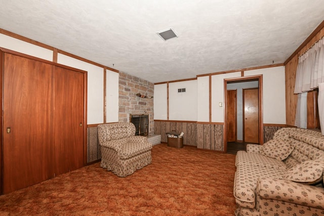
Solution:
<path fill-rule="evenodd" d="M 235 155 L 153 146 L 119 178 L 95 163 L 0 196 L 0 215 L 233 215 Z"/>

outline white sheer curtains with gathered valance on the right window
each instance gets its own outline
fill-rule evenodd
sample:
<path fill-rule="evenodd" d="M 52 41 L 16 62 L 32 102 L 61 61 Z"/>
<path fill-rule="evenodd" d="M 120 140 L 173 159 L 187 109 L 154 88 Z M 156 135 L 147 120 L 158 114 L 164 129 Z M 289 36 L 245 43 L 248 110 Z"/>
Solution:
<path fill-rule="evenodd" d="M 301 94 L 318 88 L 318 84 L 322 82 L 324 82 L 323 38 L 318 40 L 306 53 L 304 53 L 298 59 L 294 93 L 299 95 L 297 101 L 295 126 L 302 128 L 307 127 L 307 100 L 304 100 L 305 94 Z M 304 110 L 305 107 L 306 111 Z M 322 112 L 323 109 L 324 104 L 318 103 L 319 112 Z M 324 128 L 322 128 L 322 131 L 323 130 Z"/>

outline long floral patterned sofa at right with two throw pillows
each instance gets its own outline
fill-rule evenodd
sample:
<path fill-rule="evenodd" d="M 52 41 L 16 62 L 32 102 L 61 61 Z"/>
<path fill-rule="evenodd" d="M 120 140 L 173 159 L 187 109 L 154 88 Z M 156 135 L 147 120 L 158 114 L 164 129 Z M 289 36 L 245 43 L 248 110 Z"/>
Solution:
<path fill-rule="evenodd" d="M 324 136 L 279 129 L 236 154 L 235 215 L 324 215 Z"/>

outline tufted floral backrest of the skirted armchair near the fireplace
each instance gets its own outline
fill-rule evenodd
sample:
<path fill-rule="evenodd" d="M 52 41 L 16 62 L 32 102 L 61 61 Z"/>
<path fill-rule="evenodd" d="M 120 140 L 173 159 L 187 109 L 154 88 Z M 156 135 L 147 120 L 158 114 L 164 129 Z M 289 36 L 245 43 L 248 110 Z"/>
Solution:
<path fill-rule="evenodd" d="M 109 140 L 135 136 L 135 125 L 131 122 L 118 122 L 98 125 L 98 139 L 100 143 Z"/>

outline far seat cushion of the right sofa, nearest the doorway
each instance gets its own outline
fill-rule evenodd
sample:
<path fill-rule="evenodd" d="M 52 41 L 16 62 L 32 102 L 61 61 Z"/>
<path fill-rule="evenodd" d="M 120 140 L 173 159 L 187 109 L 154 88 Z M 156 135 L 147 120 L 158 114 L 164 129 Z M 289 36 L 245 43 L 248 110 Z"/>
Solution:
<path fill-rule="evenodd" d="M 263 166 L 275 169 L 286 170 L 287 166 L 281 160 L 267 157 L 258 153 L 248 153 L 245 151 L 238 151 L 236 153 L 235 165 L 251 165 L 251 166 Z"/>

